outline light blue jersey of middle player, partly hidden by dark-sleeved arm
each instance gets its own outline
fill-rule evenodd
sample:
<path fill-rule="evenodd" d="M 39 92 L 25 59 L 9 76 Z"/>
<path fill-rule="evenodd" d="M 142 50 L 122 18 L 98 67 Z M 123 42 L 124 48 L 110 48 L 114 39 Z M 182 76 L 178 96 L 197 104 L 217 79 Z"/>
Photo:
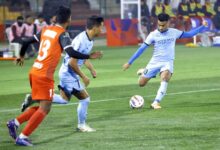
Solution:
<path fill-rule="evenodd" d="M 89 39 L 86 31 L 83 31 L 73 39 L 72 46 L 74 50 L 80 53 L 89 54 L 93 47 L 93 40 Z M 59 70 L 60 79 L 72 80 L 72 77 L 79 79 L 78 75 L 69 66 L 70 58 L 71 57 L 66 54 L 63 59 L 63 63 Z M 84 61 L 85 59 L 78 59 L 78 66 L 81 67 L 84 64 Z"/>

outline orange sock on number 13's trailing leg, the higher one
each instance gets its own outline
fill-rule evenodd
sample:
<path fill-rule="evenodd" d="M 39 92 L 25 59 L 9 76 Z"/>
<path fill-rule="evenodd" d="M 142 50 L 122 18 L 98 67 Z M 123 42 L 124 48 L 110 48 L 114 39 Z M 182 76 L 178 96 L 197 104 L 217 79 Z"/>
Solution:
<path fill-rule="evenodd" d="M 18 116 L 16 119 L 20 124 L 22 124 L 23 122 L 28 121 L 31 118 L 31 116 L 37 111 L 38 108 L 39 106 L 29 108 L 28 110 L 23 112 L 20 116 Z"/>

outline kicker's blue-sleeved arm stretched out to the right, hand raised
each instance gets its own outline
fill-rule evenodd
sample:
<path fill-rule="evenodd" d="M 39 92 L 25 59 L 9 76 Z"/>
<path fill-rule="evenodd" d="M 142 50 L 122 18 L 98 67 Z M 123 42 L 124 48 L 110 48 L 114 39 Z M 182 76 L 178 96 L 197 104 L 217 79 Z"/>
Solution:
<path fill-rule="evenodd" d="M 198 28 L 195 28 L 193 30 L 190 30 L 188 32 L 183 32 L 179 38 L 192 38 L 196 34 L 202 32 L 207 27 L 208 27 L 208 23 L 206 21 L 203 21 L 203 24 L 201 26 L 199 26 Z"/>

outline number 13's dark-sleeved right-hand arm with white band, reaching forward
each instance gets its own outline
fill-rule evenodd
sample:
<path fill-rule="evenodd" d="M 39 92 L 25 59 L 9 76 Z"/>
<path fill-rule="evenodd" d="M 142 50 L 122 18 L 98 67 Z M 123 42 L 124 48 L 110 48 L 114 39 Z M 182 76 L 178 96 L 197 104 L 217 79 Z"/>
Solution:
<path fill-rule="evenodd" d="M 71 45 L 71 39 L 69 37 L 69 34 L 64 32 L 63 34 L 60 35 L 60 44 L 62 48 L 65 50 L 65 52 L 72 58 L 76 59 L 96 59 L 96 58 L 101 58 L 102 57 L 102 52 L 97 51 L 93 52 L 90 55 L 82 54 L 76 50 L 73 49 Z"/>

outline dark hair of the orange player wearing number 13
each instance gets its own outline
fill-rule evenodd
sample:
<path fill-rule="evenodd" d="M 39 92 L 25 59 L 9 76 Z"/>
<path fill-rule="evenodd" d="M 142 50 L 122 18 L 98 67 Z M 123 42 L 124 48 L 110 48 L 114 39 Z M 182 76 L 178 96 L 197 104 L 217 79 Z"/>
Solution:
<path fill-rule="evenodd" d="M 68 7 L 60 6 L 56 11 L 56 22 L 57 23 L 66 23 L 71 16 L 71 10 Z"/>

